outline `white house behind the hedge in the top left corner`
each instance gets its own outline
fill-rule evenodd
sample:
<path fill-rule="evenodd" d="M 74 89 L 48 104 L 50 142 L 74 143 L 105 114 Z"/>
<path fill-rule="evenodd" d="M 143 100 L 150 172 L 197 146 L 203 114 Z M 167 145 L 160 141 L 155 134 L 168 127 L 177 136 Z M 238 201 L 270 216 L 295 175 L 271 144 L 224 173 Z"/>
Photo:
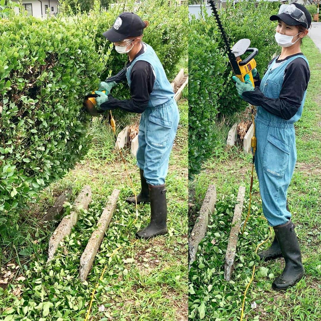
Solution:
<path fill-rule="evenodd" d="M 18 0 L 13 1 L 19 3 Z M 22 10 L 26 10 L 28 16 L 46 18 L 48 10 L 50 15 L 59 12 L 58 0 L 22 0 Z M 20 8 L 16 7 L 14 11 L 19 13 Z"/>

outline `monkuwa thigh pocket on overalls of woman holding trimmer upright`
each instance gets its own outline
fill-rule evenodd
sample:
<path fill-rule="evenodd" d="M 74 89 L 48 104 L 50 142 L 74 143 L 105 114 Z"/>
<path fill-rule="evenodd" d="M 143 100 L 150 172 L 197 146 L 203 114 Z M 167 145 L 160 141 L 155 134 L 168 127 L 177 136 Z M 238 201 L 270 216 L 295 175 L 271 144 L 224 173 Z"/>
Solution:
<path fill-rule="evenodd" d="M 276 178 L 282 178 L 288 168 L 291 146 L 269 134 L 263 151 L 263 169 Z"/>

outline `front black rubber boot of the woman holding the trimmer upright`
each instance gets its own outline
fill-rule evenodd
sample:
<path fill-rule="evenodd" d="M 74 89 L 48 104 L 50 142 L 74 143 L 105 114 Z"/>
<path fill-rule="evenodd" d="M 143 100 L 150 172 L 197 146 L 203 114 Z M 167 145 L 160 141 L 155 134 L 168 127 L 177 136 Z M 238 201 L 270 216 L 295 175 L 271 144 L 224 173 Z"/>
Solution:
<path fill-rule="evenodd" d="M 305 274 L 301 261 L 301 251 L 294 224 L 291 220 L 283 225 L 273 227 L 275 236 L 279 241 L 281 251 L 285 261 L 285 268 L 282 274 L 277 277 L 272 288 L 275 290 L 285 290 L 298 282 Z"/>

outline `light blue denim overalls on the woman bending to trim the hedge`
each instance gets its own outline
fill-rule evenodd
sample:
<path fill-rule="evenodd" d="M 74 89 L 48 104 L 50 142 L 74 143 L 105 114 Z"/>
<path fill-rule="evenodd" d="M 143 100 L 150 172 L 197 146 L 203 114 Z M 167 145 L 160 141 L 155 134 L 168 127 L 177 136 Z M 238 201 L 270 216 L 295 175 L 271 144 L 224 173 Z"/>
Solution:
<path fill-rule="evenodd" d="M 147 183 L 157 186 L 165 184 L 179 112 L 172 86 L 159 58 L 151 46 L 145 43 L 144 45 L 147 46 L 146 51 L 133 60 L 127 68 L 126 77 L 130 86 L 130 71 L 138 60 L 150 63 L 155 74 L 153 91 L 139 123 L 136 158 L 138 167 L 144 171 Z"/>

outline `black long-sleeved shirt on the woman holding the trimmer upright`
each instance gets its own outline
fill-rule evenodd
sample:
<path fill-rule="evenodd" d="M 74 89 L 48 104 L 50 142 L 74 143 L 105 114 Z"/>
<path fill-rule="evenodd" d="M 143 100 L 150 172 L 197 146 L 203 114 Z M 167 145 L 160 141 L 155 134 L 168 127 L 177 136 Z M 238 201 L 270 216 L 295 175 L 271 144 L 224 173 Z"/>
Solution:
<path fill-rule="evenodd" d="M 285 59 L 276 59 L 276 64 L 281 64 L 293 56 L 302 56 L 302 53 L 291 55 Z M 268 65 L 272 63 L 273 59 Z M 262 106 L 268 112 L 289 120 L 301 106 L 304 91 L 308 88 L 310 70 L 304 59 L 295 59 L 284 70 L 284 79 L 280 96 L 277 99 L 266 97 L 260 88 L 260 80 L 255 82 L 254 91 L 245 91 L 242 97 L 245 101 L 255 106 Z"/>

